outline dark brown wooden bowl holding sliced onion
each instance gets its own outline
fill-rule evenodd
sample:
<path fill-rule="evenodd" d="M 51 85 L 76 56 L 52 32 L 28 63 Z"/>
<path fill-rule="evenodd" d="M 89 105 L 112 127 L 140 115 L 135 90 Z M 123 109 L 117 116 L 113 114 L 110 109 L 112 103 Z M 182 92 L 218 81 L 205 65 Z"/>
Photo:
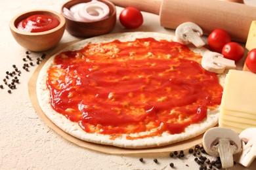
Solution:
<path fill-rule="evenodd" d="M 108 0 L 98 0 L 105 3 L 110 8 L 110 14 L 108 18 L 97 22 L 78 22 L 67 18 L 63 14 L 63 9 L 76 5 L 77 3 L 88 3 L 91 0 L 72 0 L 65 3 L 61 8 L 61 14 L 66 18 L 66 30 L 71 35 L 77 37 L 94 37 L 96 35 L 102 35 L 112 31 L 116 25 L 116 6 Z"/>

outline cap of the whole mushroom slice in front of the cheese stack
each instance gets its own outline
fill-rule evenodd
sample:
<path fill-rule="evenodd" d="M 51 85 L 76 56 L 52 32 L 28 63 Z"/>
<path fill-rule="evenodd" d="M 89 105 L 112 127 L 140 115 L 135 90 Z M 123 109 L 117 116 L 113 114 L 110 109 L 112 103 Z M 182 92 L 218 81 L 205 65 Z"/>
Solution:
<path fill-rule="evenodd" d="M 203 148 L 205 148 L 207 154 L 219 156 L 218 150 L 214 149 L 213 146 L 219 144 L 220 139 L 228 139 L 230 145 L 235 146 L 234 154 L 240 152 L 241 139 L 236 132 L 224 127 L 212 127 L 203 135 Z"/>

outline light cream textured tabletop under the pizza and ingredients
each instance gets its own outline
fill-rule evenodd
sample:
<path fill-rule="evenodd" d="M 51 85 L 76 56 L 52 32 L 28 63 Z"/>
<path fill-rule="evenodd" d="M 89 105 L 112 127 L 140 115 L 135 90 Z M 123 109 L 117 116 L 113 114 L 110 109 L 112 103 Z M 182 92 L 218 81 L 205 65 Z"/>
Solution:
<path fill-rule="evenodd" d="M 28 80 L 37 66 L 30 67 L 29 72 L 22 69 L 22 58 L 26 58 L 26 49 L 14 41 L 9 31 L 9 21 L 26 10 L 50 9 L 60 12 L 60 7 L 65 2 L 0 0 L 0 84 L 3 84 L 6 71 L 14 70 L 12 65 L 22 71 L 20 82 L 12 93 L 7 92 L 7 86 L 0 89 L 0 169 L 171 169 L 171 162 L 175 169 L 199 169 L 191 155 L 182 159 L 171 159 L 169 153 L 111 155 L 81 148 L 60 137 L 39 118 L 28 94 Z M 256 4 L 249 0 L 247 3 Z M 117 7 L 117 16 L 120 11 L 121 8 Z M 112 32 L 155 31 L 173 34 L 173 30 L 160 27 L 159 16 L 148 13 L 143 13 L 143 16 L 144 24 L 139 29 L 123 29 L 117 20 Z M 60 44 L 77 39 L 65 32 Z M 30 57 L 35 63 L 41 54 L 33 52 Z M 139 158 L 144 158 L 144 163 Z M 154 163 L 154 158 L 158 159 L 158 163 Z M 253 167 L 256 167 L 256 161 L 250 169 Z M 243 168 L 236 165 L 232 169 Z"/>

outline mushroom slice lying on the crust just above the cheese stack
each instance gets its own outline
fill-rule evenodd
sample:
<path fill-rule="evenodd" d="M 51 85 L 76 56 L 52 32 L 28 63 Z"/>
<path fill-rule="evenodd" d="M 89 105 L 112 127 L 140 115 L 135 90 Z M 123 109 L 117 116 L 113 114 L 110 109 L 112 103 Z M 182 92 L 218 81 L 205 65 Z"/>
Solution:
<path fill-rule="evenodd" d="M 236 64 L 232 59 L 226 59 L 222 54 L 207 51 L 203 54 L 201 61 L 203 69 L 213 73 L 223 73 L 225 69 L 235 69 Z"/>

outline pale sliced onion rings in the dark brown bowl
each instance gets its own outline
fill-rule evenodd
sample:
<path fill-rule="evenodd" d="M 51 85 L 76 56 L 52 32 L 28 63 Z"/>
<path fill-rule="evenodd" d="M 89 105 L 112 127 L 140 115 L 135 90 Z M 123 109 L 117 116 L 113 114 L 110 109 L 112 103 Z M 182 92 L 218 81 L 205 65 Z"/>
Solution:
<path fill-rule="evenodd" d="M 105 3 L 93 0 L 89 3 L 79 3 L 68 9 L 64 8 L 63 13 L 68 18 L 79 22 L 96 22 L 108 17 L 110 9 Z"/>

